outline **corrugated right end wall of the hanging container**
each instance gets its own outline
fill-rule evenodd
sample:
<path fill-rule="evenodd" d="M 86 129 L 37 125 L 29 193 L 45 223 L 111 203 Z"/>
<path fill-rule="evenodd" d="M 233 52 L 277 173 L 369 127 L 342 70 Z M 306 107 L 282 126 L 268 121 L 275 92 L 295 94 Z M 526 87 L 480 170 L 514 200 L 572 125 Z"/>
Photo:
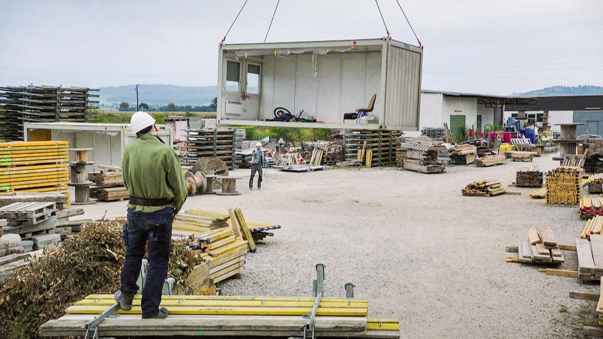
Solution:
<path fill-rule="evenodd" d="M 418 130 L 421 53 L 391 45 L 386 86 L 385 128 Z"/>

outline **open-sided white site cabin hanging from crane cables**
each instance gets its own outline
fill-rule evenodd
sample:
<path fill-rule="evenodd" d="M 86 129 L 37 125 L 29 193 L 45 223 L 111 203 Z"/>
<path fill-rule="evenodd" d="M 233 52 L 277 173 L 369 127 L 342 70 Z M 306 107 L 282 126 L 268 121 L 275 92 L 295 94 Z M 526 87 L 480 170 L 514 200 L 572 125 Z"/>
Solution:
<path fill-rule="evenodd" d="M 423 49 L 382 39 L 220 45 L 220 124 L 418 130 Z M 367 107 L 374 119 L 345 113 Z M 317 122 L 265 121 L 275 109 Z"/>

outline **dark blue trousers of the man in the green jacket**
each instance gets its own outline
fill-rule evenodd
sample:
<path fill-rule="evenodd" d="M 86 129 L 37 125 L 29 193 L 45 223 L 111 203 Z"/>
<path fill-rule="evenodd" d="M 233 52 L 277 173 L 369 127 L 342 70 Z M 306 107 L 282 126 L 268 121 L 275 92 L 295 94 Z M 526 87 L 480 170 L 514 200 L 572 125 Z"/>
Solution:
<path fill-rule="evenodd" d="M 157 212 L 134 212 L 128 208 L 128 223 L 122 231 L 127 253 L 121 273 L 121 291 L 134 295 L 139 286 L 136 280 L 148 242 L 149 256 L 147 280 L 142 291 L 142 317 L 153 316 L 161 303 L 163 282 L 168 273 L 169 254 L 172 247 L 172 220 L 174 209 L 164 208 Z"/>

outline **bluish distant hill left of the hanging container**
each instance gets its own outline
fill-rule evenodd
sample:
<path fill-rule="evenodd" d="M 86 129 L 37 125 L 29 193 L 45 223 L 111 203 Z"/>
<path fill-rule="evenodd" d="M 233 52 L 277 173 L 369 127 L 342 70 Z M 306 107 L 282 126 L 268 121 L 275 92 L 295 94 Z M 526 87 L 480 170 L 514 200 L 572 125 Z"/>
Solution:
<path fill-rule="evenodd" d="M 101 103 L 136 103 L 136 85 L 100 87 Z M 138 85 L 138 101 L 147 104 L 209 104 L 218 95 L 218 86 Z M 134 104 L 136 106 L 136 104 Z"/>

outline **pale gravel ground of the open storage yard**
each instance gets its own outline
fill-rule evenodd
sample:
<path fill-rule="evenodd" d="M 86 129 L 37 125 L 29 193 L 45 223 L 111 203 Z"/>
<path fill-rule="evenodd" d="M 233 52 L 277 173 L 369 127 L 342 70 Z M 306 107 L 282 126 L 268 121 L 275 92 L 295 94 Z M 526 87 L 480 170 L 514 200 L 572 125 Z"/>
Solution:
<path fill-rule="evenodd" d="M 531 226 L 551 226 L 567 244 L 584 226 L 576 206 L 546 205 L 529 197 L 534 189 L 507 188 L 516 168 L 529 164 L 448 166 L 443 174 L 269 170 L 259 191 L 247 189 L 249 170 L 236 170 L 231 175 L 244 176 L 241 195 L 195 196 L 184 209 L 240 207 L 248 220 L 283 226 L 247 256 L 242 279 L 221 284 L 225 294 L 309 296 L 314 264 L 324 262 L 327 296 L 344 296 L 352 280 L 355 296 L 369 299 L 369 315 L 399 319 L 402 337 L 580 337 L 570 325 L 582 325 L 581 306 L 595 306 L 568 292 L 598 285 L 505 262 L 504 247 L 526 239 Z M 532 164 L 558 166 L 551 156 Z M 522 194 L 461 195 L 467 183 L 490 178 Z M 84 209 L 81 218 L 124 216 L 125 201 Z M 562 268 L 577 268 L 575 252 L 564 257 Z"/>

